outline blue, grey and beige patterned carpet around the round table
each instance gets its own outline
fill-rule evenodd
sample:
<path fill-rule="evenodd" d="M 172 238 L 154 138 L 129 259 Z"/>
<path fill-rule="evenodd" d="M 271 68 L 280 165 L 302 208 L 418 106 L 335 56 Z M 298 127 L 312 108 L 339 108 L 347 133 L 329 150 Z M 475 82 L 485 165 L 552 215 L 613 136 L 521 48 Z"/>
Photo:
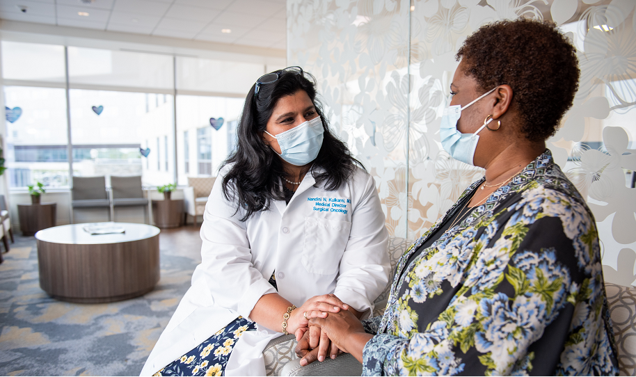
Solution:
<path fill-rule="evenodd" d="M 0 264 L 1 376 L 138 376 L 200 262 L 194 227 L 163 230 L 161 280 L 108 304 L 54 300 L 40 289 L 35 239 L 15 236 Z"/>

